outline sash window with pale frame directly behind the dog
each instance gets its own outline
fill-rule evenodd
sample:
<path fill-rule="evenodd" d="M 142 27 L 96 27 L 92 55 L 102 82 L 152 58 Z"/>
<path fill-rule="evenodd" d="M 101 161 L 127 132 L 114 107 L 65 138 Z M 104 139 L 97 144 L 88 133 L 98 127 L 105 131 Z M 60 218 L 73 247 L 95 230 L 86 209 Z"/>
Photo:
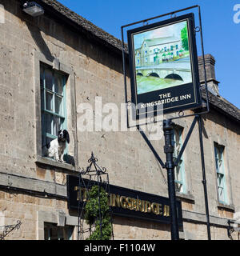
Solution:
<path fill-rule="evenodd" d="M 66 129 L 66 76 L 41 65 L 42 147 Z"/>

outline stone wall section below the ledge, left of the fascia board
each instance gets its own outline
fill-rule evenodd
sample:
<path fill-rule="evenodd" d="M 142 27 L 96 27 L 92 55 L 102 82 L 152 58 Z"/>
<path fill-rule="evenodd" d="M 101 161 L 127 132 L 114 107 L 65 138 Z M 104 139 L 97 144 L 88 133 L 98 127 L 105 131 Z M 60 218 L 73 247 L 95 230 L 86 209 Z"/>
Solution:
<path fill-rule="evenodd" d="M 22 222 L 18 229 L 6 236 L 6 240 L 35 240 L 38 232 L 38 211 L 56 213 L 56 209 L 67 211 L 66 202 L 54 198 L 39 198 L 34 195 L 0 192 L 0 213 L 4 225 Z M 1 230 L 2 231 L 2 230 Z"/>

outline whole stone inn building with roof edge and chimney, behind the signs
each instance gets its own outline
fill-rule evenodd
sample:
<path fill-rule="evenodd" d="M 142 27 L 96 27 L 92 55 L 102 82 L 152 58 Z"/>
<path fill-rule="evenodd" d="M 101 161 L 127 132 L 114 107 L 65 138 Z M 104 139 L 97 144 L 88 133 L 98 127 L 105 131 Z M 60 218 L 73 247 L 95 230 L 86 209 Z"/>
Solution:
<path fill-rule="evenodd" d="M 36 2 L 45 14 L 33 18 L 22 12 L 21 1 L 0 0 L 5 16 L 0 24 L 0 226 L 22 222 L 6 239 L 44 239 L 50 238 L 49 232 L 51 238 L 76 239 L 78 212 L 67 207 L 66 175 L 78 175 L 92 151 L 116 186 L 168 197 L 166 170 L 137 130 L 79 130 L 81 103 L 96 111 L 96 97 L 102 97 L 102 106 L 117 103 L 119 110 L 125 102 L 122 43 L 57 1 Z M 211 55 L 206 55 L 206 64 L 210 114 L 203 116 L 202 128 L 210 230 L 212 239 L 229 239 L 227 220 L 240 211 L 240 110 L 219 95 Z M 42 66 L 66 78 L 71 163 L 42 157 Z M 201 75 L 201 58 L 199 68 Z M 176 122 L 183 129 L 182 139 L 192 120 Z M 152 142 L 162 159 L 163 143 L 163 139 Z M 217 146 L 224 149 L 225 202 L 218 196 L 222 176 L 216 170 Z M 183 156 L 186 190 L 177 193 L 182 202 L 182 239 L 207 238 L 199 154 L 195 127 Z M 114 216 L 114 238 L 170 239 L 170 225 Z"/>

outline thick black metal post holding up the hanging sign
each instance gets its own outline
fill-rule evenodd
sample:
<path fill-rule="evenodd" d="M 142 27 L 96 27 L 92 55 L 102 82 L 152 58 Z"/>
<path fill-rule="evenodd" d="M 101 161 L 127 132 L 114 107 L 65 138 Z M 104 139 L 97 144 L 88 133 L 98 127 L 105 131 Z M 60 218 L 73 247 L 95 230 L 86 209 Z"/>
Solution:
<path fill-rule="evenodd" d="M 172 145 L 172 134 L 174 122 L 170 119 L 163 121 L 163 131 L 165 137 L 164 153 L 166 154 L 166 170 L 168 182 L 168 194 L 170 199 L 170 220 L 171 220 L 171 238 L 178 240 L 178 214 L 174 182 L 174 146 Z"/>

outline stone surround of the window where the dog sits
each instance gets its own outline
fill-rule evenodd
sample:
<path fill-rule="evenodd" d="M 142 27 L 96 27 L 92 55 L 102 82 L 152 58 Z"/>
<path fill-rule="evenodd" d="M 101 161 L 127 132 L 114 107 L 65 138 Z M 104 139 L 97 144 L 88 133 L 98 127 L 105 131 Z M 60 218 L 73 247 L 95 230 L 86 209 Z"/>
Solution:
<path fill-rule="evenodd" d="M 63 62 L 51 55 L 42 54 L 39 51 L 34 52 L 34 101 L 35 101 L 35 154 L 34 162 L 38 165 L 52 166 L 65 170 L 74 171 L 78 168 L 78 140 L 77 140 L 77 106 L 76 106 L 76 86 L 74 69 L 69 62 Z M 41 115 L 41 86 L 40 86 L 40 64 L 46 64 L 54 70 L 58 70 L 66 75 L 66 109 L 67 109 L 67 130 L 70 133 L 71 142 L 67 145 L 67 155 L 70 162 L 57 162 L 51 158 L 42 156 L 42 115 Z M 58 63 L 56 65 L 55 63 Z"/>

